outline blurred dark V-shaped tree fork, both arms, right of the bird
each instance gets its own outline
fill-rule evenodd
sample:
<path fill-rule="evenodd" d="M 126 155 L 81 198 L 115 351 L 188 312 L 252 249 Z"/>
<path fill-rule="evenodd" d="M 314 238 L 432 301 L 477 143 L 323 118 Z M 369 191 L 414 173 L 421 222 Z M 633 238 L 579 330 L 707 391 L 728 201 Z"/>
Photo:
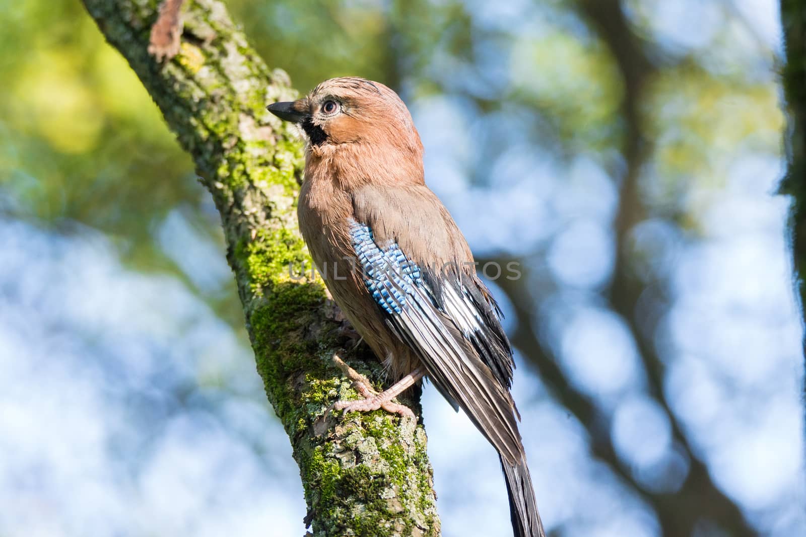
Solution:
<path fill-rule="evenodd" d="M 619 204 L 614 222 L 616 266 L 606 298 L 613 312 L 617 312 L 625 320 L 632 333 L 649 380 L 649 393 L 667 412 L 675 444 L 683 448 L 690 461 L 688 474 L 679 491 L 675 494 L 654 492 L 636 480 L 615 451 L 609 415 L 605 415 L 597 407 L 595 399 L 571 386 L 558 366 L 558 358 L 535 335 L 532 328 L 535 325 L 534 306 L 531 304 L 530 294 L 524 292 L 517 283 L 499 279 L 496 283 L 512 300 L 518 319 L 513 345 L 529 357 L 543 382 L 551 387 L 559 402 L 588 429 L 592 455 L 607 463 L 613 473 L 654 508 L 663 528 L 663 535 L 692 535 L 696 525 L 705 519 L 717 523 L 729 535 L 755 535 L 742 510 L 717 487 L 707 466 L 691 448 L 679 420 L 664 397 L 663 362 L 654 349 L 651 336 L 646 335 L 652 331 L 642 330 L 638 322 L 636 304 L 644 286 L 633 277 L 632 252 L 628 245 L 629 233 L 647 217 L 639 180 L 642 164 L 651 154 L 652 146 L 651 140 L 644 133 L 638 107 L 643 99 L 646 81 L 653 75 L 656 67 L 646 57 L 646 44 L 629 27 L 619 0 L 577 0 L 576 5 L 580 14 L 588 19 L 592 29 L 610 48 L 624 82 L 620 115 L 625 127 L 621 154 L 624 155 L 626 166 L 621 177 Z M 482 264 L 484 261 L 480 260 Z"/>

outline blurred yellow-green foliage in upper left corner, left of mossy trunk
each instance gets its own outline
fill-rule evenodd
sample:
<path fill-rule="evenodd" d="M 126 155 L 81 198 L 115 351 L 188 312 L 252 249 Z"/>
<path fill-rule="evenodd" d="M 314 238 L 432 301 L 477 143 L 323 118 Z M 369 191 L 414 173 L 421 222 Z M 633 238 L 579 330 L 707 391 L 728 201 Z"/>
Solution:
<path fill-rule="evenodd" d="M 30 217 L 92 225 L 125 239 L 143 267 L 167 268 L 150 224 L 202 199 L 188 155 L 80 2 L 24 2 L 10 14 L 0 36 L 2 188 Z"/>

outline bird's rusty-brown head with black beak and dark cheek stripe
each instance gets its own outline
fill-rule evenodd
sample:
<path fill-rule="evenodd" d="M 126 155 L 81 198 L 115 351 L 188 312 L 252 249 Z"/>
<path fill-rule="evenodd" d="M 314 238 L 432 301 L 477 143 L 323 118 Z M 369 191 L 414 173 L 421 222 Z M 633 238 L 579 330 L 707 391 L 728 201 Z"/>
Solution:
<path fill-rule="evenodd" d="M 401 98 L 380 82 L 355 76 L 331 78 L 298 101 L 276 102 L 268 110 L 297 123 L 315 154 L 368 147 L 422 159 L 422 143 Z"/>

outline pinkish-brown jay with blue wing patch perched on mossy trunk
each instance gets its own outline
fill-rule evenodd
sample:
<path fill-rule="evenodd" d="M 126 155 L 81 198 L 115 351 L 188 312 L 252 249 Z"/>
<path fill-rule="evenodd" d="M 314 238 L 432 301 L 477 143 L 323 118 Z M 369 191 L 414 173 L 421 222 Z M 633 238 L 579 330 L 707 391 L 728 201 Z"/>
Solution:
<path fill-rule="evenodd" d="M 267 108 L 305 139 L 297 217 L 314 264 L 396 381 L 378 393 L 351 371 L 363 399 L 334 407 L 413 416 L 392 399 L 428 378 L 496 448 L 514 535 L 545 537 L 510 394 L 515 365 L 501 309 L 426 186 L 409 109 L 393 89 L 355 76 Z"/>

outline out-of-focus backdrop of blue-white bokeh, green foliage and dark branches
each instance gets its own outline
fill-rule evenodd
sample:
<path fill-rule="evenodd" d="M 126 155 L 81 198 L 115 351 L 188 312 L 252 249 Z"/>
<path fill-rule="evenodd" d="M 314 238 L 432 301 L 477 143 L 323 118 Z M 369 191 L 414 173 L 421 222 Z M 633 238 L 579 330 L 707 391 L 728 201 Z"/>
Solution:
<path fill-rule="evenodd" d="M 488 275 L 547 530 L 800 534 L 775 2 L 227 5 L 301 91 L 397 89 L 476 257 L 521 262 Z M 301 535 L 189 157 L 79 2 L 0 13 L 0 535 Z M 424 406 L 443 535 L 499 535 L 494 454 Z"/>

